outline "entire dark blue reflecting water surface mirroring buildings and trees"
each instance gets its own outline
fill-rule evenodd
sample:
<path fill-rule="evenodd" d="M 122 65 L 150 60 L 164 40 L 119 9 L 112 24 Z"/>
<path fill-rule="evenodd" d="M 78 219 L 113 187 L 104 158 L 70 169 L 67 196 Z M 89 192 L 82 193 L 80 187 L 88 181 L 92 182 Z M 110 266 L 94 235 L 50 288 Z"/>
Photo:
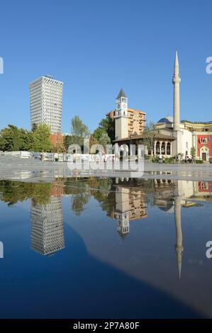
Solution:
<path fill-rule="evenodd" d="M 212 317 L 212 182 L 0 181 L 0 213 L 1 318 Z"/>

